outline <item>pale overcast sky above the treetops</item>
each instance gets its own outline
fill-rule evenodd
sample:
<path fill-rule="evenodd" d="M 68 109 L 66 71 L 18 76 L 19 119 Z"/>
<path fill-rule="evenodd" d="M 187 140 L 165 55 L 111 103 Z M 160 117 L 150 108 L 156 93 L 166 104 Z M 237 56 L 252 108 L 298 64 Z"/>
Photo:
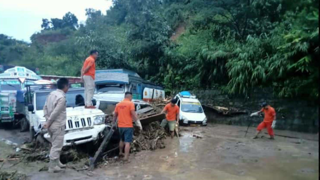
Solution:
<path fill-rule="evenodd" d="M 85 9 L 106 14 L 111 0 L 0 0 L 0 34 L 30 42 L 30 36 L 41 30 L 42 18 L 60 18 L 71 12 L 78 23 L 86 20 Z"/>

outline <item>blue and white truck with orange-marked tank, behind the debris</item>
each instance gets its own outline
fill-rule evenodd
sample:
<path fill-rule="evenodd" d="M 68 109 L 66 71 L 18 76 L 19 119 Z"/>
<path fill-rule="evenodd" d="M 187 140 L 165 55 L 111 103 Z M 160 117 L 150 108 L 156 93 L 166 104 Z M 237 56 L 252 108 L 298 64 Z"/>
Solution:
<path fill-rule="evenodd" d="M 136 110 L 150 106 L 147 102 L 164 98 L 164 90 L 143 80 L 137 73 L 127 69 L 97 70 L 93 98 L 96 107 L 111 114 L 116 104 L 124 99 L 126 91 L 132 92 L 132 102 Z"/>

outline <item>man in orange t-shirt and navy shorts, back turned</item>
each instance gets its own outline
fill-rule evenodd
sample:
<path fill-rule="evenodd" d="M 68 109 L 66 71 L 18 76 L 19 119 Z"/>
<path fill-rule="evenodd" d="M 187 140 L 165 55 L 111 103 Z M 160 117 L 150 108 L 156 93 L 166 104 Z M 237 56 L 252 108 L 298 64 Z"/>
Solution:
<path fill-rule="evenodd" d="M 125 92 L 124 100 L 116 105 L 114 116 L 113 116 L 113 127 L 114 123 L 118 118 L 118 129 L 120 134 L 120 143 L 119 143 L 119 157 L 124 156 L 124 161 L 128 161 L 129 152 L 130 152 L 130 143 L 132 143 L 133 137 L 133 123 L 132 118 L 135 121 L 135 124 L 142 130 L 142 125 L 138 119 L 137 113 L 134 111 L 134 104 L 131 102 L 132 93 Z M 124 153 L 123 153 L 124 151 Z"/>

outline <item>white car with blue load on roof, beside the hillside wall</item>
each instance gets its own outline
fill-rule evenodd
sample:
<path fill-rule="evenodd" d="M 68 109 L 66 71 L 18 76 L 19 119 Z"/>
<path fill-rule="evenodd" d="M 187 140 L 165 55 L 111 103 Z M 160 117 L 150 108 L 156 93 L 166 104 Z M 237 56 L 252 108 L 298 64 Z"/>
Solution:
<path fill-rule="evenodd" d="M 192 95 L 189 91 L 182 91 L 174 98 L 178 100 L 177 105 L 180 108 L 180 124 L 207 125 L 207 117 L 195 95 Z"/>

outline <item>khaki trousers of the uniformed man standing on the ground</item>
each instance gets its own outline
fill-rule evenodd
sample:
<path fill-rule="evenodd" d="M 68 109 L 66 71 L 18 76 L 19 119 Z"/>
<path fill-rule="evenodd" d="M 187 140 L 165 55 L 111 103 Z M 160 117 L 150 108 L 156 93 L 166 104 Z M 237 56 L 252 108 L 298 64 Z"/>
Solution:
<path fill-rule="evenodd" d="M 63 146 L 63 138 L 65 134 L 65 126 L 55 128 L 50 127 L 48 129 L 49 135 L 51 137 L 51 149 L 50 149 L 50 159 L 56 160 L 60 158 L 60 152 Z"/>

